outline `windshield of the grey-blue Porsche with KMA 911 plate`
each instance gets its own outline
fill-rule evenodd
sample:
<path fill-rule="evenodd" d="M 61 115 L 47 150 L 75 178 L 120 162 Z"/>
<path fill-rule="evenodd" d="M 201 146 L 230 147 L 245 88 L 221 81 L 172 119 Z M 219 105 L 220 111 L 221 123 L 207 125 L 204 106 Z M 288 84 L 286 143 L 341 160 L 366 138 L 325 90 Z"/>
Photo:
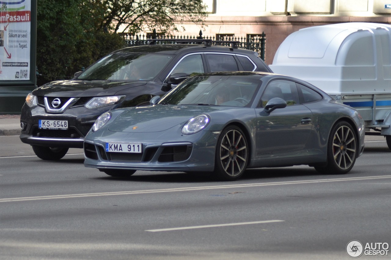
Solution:
<path fill-rule="evenodd" d="M 178 85 L 158 103 L 246 107 L 261 84 L 259 76 L 197 76 Z"/>

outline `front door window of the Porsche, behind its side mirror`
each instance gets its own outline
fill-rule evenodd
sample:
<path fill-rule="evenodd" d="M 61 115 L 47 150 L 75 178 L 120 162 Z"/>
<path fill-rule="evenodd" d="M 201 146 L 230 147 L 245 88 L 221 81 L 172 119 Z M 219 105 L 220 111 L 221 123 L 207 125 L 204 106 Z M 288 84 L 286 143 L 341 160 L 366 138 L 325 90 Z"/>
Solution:
<path fill-rule="evenodd" d="M 272 98 L 282 98 L 287 102 L 287 106 L 300 104 L 296 84 L 289 80 L 273 80 L 270 82 L 261 98 L 262 107 Z"/>

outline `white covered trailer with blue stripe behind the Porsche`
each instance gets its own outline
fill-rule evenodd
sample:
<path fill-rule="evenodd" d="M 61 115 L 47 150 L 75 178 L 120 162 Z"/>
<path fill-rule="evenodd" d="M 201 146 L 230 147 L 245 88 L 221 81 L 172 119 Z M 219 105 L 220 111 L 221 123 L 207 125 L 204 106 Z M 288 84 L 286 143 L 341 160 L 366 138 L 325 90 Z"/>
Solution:
<path fill-rule="evenodd" d="M 391 25 L 339 23 L 298 30 L 283 41 L 270 67 L 357 109 L 366 135 L 384 135 L 391 149 Z"/>

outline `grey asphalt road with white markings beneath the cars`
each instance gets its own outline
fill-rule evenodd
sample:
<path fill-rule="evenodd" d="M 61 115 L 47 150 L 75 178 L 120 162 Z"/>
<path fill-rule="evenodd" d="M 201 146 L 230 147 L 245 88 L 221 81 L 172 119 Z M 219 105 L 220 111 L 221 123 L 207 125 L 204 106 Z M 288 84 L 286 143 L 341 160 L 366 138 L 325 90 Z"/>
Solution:
<path fill-rule="evenodd" d="M 351 240 L 391 244 L 383 137 L 366 138 L 347 175 L 294 166 L 237 182 L 149 171 L 116 179 L 85 168 L 80 149 L 49 162 L 18 136 L 0 144 L 0 259 L 351 259 Z"/>

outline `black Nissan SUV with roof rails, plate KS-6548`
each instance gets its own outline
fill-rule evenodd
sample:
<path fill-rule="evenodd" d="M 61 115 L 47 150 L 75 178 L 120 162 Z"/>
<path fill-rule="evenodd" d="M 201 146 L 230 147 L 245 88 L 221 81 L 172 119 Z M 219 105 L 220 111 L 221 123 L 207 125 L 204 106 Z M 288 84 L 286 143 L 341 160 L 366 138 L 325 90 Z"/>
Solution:
<path fill-rule="evenodd" d="M 84 136 L 100 114 L 149 104 L 191 75 L 215 71 L 271 69 L 258 53 L 239 42 L 158 39 L 156 44 L 123 48 L 103 57 L 72 80 L 34 89 L 20 117 L 22 142 L 43 160 L 59 160 L 68 148 L 83 148 Z M 218 46 L 216 44 L 229 44 Z"/>

